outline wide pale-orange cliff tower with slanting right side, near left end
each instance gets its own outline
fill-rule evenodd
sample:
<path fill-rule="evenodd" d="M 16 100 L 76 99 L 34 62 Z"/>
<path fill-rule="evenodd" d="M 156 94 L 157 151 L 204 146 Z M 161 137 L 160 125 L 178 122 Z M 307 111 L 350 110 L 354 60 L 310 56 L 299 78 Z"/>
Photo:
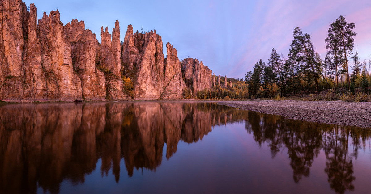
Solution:
<path fill-rule="evenodd" d="M 39 39 L 42 50 L 42 67 L 45 69 L 49 99 L 81 99 L 81 80 L 73 71 L 71 44 L 60 22 L 59 11 L 39 20 Z"/>

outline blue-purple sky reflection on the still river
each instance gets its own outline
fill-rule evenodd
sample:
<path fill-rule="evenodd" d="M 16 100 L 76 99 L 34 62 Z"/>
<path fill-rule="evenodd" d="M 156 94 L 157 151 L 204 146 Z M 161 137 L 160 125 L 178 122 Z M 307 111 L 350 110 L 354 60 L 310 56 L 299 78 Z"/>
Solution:
<path fill-rule="evenodd" d="M 128 177 L 122 158 L 116 183 L 112 169 L 102 176 L 99 159 L 95 170 L 85 175 L 85 183 L 71 187 L 69 181 L 64 181 L 60 193 L 335 193 L 324 171 L 326 156 L 322 149 L 310 166 L 309 176 L 295 183 L 287 148 L 281 148 L 272 158 L 269 139 L 259 145 L 253 133 L 246 131 L 244 122 L 215 126 L 196 143 L 180 141 L 169 160 L 166 146 L 161 165 L 154 171 L 134 169 L 133 176 Z M 349 144 L 349 152 L 352 149 Z M 357 193 L 368 190 L 369 157 L 370 153 L 362 150 L 357 161 L 353 159 Z"/>

